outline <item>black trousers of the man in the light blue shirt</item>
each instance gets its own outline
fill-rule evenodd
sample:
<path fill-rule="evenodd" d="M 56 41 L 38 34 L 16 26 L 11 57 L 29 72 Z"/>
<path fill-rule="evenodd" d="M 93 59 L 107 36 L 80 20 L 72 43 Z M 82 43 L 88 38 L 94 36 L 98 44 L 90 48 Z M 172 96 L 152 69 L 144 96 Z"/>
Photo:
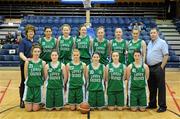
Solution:
<path fill-rule="evenodd" d="M 165 86 L 165 69 L 161 68 L 161 63 L 154 66 L 149 66 L 150 76 L 148 86 L 150 91 L 150 107 L 157 107 L 157 92 L 158 105 L 160 108 L 167 108 L 166 106 L 166 86 Z"/>

